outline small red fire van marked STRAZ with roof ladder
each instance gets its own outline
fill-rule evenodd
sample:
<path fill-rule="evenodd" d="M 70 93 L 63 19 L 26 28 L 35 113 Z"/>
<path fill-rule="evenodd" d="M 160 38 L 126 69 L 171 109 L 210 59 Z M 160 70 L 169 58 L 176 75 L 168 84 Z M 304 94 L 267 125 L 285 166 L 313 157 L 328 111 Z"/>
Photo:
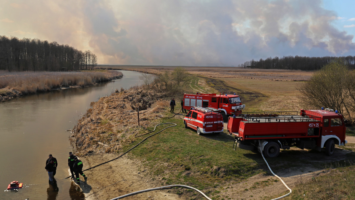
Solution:
<path fill-rule="evenodd" d="M 198 135 L 223 132 L 223 118 L 220 110 L 209 107 L 193 107 L 184 118 L 185 128 L 193 128 Z"/>

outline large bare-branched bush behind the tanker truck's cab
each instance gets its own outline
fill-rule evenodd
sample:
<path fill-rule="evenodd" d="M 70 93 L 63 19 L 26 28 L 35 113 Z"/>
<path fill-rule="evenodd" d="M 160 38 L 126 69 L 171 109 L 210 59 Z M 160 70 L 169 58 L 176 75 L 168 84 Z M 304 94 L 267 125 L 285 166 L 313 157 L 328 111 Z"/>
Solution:
<path fill-rule="evenodd" d="M 300 85 L 302 100 L 314 107 L 327 107 L 338 110 L 350 121 L 354 120 L 355 97 L 353 84 L 354 71 L 345 65 L 344 60 L 331 61 L 316 71 L 310 81 Z"/>

